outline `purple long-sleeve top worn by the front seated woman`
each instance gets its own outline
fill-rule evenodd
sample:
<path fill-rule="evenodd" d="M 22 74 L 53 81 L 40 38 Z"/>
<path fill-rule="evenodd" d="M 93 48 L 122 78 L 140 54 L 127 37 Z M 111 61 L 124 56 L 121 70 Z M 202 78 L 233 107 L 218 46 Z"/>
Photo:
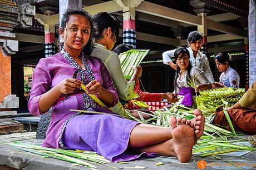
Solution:
<path fill-rule="evenodd" d="M 87 57 L 86 61 L 92 70 L 94 78 L 102 84 L 102 87 L 108 89 L 112 93 L 114 105 L 116 105 L 119 97 L 114 87 L 114 83 L 104 64 L 100 59 L 94 57 Z M 40 113 L 38 105 L 42 94 L 55 87 L 63 79 L 68 77 L 72 78 L 73 73 L 76 70 L 77 68 L 75 66 L 71 66 L 70 62 L 68 62 L 61 53 L 57 53 L 48 58 L 40 59 L 40 62 L 37 64 L 37 67 L 33 72 L 32 89 L 30 93 L 31 96 L 28 101 L 29 112 L 31 112 L 33 115 L 43 114 Z M 81 80 L 80 74 L 78 74 L 77 79 Z M 86 83 L 89 83 L 88 76 Z M 64 94 L 62 96 L 64 96 Z M 61 131 L 63 131 L 62 128 L 65 128 L 63 125 L 66 120 L 75 113 L 70 111 L 70 109 L 83 109 L 83 107 L 84 101 L 81 93 L 71 95 L 67 99 L 54 104 L 51 108 L 51 122 L 46 132 L 46 139 L 43 142 L 43 146 L 59 148 L 60 146 L 58 144 L 58 140 Z M 101 112 L 110 112 L 106 108 L 99 106 L 99 104 L 97 104 L 96 108 L 93 109 Z"/>

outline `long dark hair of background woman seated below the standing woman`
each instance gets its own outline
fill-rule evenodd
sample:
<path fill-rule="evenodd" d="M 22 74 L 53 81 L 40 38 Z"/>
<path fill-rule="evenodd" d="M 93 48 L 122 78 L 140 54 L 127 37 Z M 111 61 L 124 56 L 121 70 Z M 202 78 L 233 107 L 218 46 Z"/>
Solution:
<path fill-rule="evenodd" d="M 190 57 L 189 56 L 189 51 L 188 51 L 187 48 L 185 48 L 185 47 L 177 48 L 175 50 L 175 52 L 174 52 L 174 58 L 175 58 L 175 62 L 174 63 L 176 63 L 177 59 L 179 58 L 179 54 L 181 54 L 181 58 L 183 58 L 185 54 L 187 54 L 188 57 Z M 188 69 L 187 69 L 188 70 L 188 77 L 189 78 L 190 78 L 190 70 L 191 70 L 191 68 L 192 68 L 192 66 L 191 66 L 190 61 L 189 61 L 189 66 L 188 66 Z M 176 69 L 175 78 L 174 78 L 175 93 L 177 91 L 177 79 L 178 79 L 179 75 L 180 75 L 180 67 L 177 64 L 177 69 Z"/>

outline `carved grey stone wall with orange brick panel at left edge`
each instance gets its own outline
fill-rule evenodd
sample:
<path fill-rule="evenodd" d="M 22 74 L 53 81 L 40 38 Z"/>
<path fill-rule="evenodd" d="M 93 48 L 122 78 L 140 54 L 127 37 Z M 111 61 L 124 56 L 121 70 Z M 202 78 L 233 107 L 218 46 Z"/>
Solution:
<path fill-rule="evenodd" d="M 17 108 L 19 101 L 11 95 L 11 54 L 18 51 L 18 41 L 13 28 L 29 27 L 36 14 L 34 1 L 0 0 L 0 116 L 16 114 L 10 108 Z M 14 113 L 15 112 L 15 113 Z"/>

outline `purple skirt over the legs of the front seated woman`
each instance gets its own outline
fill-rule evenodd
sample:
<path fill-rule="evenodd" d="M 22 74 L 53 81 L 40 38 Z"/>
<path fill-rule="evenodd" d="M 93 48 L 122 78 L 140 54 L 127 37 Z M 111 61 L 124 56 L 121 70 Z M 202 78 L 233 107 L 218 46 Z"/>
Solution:
<path fill-rule="evenodd" d="M 130 161 L 145 154 L 127 151 L 130 133 L 139 122 L 108 114 L 78 115 L 67 123 L 61 141 L 65 147 L 95 151 L 110 161 Z"/>

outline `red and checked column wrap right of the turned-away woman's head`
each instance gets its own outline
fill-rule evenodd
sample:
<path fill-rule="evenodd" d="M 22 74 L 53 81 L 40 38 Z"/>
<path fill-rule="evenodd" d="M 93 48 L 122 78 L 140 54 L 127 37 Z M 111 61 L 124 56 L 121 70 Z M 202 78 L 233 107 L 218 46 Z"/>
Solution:
<path fill-rule="evenodd" d="M 126 19 L 123 22 L 123 38 L 125 44 L 131 44 L 136 48 L 135 21 L 134 19 Z"/>

